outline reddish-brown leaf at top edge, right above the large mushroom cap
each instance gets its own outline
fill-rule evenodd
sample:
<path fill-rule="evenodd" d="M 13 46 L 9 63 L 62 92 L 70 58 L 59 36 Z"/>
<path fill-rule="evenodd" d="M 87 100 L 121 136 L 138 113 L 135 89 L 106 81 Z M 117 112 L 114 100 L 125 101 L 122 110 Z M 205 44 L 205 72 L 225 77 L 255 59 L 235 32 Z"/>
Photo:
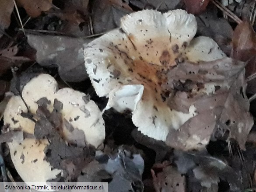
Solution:
<path fill-rule="evenodd" d="M 210 0 L 184 0 L 186 11 L 191 14 L 201 14 L 206 10 Z"/>

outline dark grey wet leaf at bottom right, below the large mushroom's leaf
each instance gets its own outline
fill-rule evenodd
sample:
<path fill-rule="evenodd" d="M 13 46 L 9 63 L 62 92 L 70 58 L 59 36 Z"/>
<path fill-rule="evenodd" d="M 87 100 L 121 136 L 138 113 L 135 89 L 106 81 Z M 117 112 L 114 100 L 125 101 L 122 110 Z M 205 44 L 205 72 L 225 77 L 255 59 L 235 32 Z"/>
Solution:
<path fill-rule="evenodd" d="M 231 191 L 243 189 L 241 174 L 221 159 L 181 151 L 175 152 L 175 158 L 175 164 L 180 172 L 189 173 L 192 170 L 194 177 L 200 181 L 201 186 L 210 191 L 217 191 L 216 187 L 220 179 L 229 183 Z"/>

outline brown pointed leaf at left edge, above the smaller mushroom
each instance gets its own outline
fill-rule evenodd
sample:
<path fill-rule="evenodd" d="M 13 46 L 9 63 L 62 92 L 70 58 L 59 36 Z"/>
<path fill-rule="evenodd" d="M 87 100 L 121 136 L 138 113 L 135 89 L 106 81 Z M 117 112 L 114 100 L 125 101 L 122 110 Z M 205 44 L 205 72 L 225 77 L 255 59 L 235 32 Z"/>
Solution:
<path fill-rule="evenodd" d="M 0 75 L 11 69 L 12 66 L 20 66 L 31 60 L 24 56 L 16 56 L 18 51 L 18 45 L 0 50 Z"/>

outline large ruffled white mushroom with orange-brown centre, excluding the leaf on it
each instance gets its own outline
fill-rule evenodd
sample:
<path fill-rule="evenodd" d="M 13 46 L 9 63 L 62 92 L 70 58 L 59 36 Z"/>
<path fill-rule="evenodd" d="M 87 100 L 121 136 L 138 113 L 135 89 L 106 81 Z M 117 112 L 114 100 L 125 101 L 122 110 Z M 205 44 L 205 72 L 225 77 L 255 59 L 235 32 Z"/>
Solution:
<path fill-rule="evenodd" d="M 214 61 L 225 56 L 208 37 L 194 38 L 196 18 L 185 10 L 161 14 L 142 10 L 121 18 L 120 28 L 85 45 L 87 73 L 96 93 L 109 97 L 108 108 L 129 109 L 138 130 L 156 140 L 166 141 L 170 129 L 179 129 L 196 115 L 168 107 L 161 85 L 165 71 L 184 61 Z M 208 85 L 205 94 L 214 92 Z"/>

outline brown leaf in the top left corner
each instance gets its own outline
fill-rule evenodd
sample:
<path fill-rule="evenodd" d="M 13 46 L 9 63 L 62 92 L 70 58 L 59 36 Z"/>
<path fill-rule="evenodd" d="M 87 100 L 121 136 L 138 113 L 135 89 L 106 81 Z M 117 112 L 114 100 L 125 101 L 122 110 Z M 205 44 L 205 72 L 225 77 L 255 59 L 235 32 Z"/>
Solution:
<path fill-rule="evenodd" d="M 0 34 L 3 33 L 4 29 L 9 27 L 13 8 L 14 3 L 12 0 L 0 1 Z"/>

